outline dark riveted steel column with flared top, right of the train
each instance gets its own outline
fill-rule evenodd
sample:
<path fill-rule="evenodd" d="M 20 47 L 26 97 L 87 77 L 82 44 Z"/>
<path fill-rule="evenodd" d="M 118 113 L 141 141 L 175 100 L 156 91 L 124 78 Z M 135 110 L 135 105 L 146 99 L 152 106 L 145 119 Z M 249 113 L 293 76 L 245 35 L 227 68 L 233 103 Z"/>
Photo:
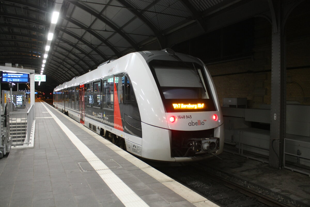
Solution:
<path fill-rule="evenodd" d="M 271 110 L 269 165 L 283 167 L 286 136 L 286 37 L 285 22 L 303 0 L 268 0 L 272 22 Z"/>

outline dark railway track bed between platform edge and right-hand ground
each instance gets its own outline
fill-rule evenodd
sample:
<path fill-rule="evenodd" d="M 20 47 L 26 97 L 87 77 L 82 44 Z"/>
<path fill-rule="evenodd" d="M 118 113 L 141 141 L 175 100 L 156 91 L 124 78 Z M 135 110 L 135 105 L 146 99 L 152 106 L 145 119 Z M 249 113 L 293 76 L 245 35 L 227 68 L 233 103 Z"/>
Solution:
<path fill-rule="evenodd" d="M 232 182 L 224 176 L 212 173 L 197 164 L 186 166 L 154 166 L 162 173 L 170 176 L 183 185 L 198 192 L 207 199 L 219 206 L 227 207 L 294 207 L 294 202 L 281 200 L 279 197 L 263 195 L 262 192 L 247 187 L 247 183 L 242 184 Z M 245 187 L 246 186 L 246 187 Z"/>

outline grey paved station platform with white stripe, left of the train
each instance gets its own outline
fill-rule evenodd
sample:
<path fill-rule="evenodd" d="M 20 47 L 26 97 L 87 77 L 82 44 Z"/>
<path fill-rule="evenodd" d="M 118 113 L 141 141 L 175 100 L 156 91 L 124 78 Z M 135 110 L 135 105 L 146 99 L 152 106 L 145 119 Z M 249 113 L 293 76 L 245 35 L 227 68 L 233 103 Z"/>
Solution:
<path fill-rule="evenodd" d="M 32 148 L 0 159 L 0 206 L 217 206 L 45 102 Z"/>

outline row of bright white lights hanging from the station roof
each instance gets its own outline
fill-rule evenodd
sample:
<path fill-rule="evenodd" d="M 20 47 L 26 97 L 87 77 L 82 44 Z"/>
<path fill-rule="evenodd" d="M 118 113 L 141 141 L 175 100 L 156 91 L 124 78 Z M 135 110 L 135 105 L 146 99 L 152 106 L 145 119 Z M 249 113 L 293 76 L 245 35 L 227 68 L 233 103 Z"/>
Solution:
<path fill-rule="evenodd" d="M 47 42 L 46 42 L 46 46 L 45 46 L 45 52 L 44 52 L 44 59 L 43 59 L 43 64 L 42 64 L 42 69 L 41 69 L 41 75 L 44 72 L 44 67 L 45 67 L 45 63 L 48 57 L 48 51 L 50 50 L 51 47 L 51 43 L 53 40 L 53 36 L 54 36 L 54 31 L 56 28 L 56 24 L 57 24 L 57 20 L 59 17 L 59 13 L 60 13 L 60 9 L 62 6 L 63 0 L 55 0 L 55 8 L 52 14 L 52 18 L 51 18 L 51 24 L 50 24 L 50 29 L 48 31 L 48 35 L 47 35 Z"/>

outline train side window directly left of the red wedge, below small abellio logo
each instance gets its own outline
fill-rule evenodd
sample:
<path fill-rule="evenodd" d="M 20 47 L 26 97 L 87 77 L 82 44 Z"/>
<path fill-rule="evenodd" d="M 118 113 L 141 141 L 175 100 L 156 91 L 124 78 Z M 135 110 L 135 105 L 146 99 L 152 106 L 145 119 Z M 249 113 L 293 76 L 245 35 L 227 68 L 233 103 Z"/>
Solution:
<path fill-rule="evenodd" d="M 102 81 L 103 88 L 103 108 L 114 109 L 114 82 L 113 77 Z"/>

